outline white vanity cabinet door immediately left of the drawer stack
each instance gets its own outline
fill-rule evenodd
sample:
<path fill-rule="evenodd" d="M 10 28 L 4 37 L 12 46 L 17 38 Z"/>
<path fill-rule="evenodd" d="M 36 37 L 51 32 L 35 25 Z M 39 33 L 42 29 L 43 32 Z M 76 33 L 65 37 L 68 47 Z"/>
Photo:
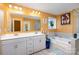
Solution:
<path fill-rule="evenodd" d="M 26 40 L 16 42 L 16 55 L 26 55 Z"/>

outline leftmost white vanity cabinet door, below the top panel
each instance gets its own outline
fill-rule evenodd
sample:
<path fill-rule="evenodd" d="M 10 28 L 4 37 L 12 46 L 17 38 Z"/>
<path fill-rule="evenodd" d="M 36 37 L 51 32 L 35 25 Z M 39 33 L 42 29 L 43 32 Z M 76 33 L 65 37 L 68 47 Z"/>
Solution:
<path fill-rule="evenodd" d="M 15 43 L 8 43 L 2 45 L 2 54 L 3 55 L 14 55 L 15 54 Z"/>

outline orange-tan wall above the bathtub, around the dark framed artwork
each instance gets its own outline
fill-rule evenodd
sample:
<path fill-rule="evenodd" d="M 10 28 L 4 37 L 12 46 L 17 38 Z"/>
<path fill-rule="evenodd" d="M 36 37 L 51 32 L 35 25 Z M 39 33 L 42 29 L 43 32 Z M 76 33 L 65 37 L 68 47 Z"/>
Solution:
<path fill-rule="evenodd" d="M 74 11 L 70 12 L 71 23 L 68 25 L 61 25 L 61 15 L 57 16 L 57 30 L 56 32 L 74 33 L 76 27 L 76 18 Z"/>

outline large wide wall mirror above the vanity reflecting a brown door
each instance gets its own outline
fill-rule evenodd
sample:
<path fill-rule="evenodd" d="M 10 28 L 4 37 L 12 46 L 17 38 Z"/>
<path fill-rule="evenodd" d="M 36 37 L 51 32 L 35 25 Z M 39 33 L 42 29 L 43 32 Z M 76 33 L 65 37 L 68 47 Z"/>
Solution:
<path fill-rule="evenodd" d="M 22 19 L 15 19 L 12 16 L 20 17 Z M 11 14 L 9 19 L 8 32 L 40 31 L 41 21 L 37 16 Z"/>

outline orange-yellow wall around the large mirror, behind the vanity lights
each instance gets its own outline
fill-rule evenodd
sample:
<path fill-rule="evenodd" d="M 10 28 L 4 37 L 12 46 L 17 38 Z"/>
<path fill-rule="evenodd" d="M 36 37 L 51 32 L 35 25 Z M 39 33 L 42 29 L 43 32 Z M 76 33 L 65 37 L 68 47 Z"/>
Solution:
<path fill-rule="evenodd" d="M 34 10 L 32 8 L 23 7 L 21 5 L 17 5 L 17 4 L 13 4 L 13 3 L 11 5 L 18 6 L 18 7 L 22 7 L 23 8 L 22 12 L 26 16 L 29 16 L 32 13 L 32 11 Z M 15 8 L 9 8 L 9 4 L 8 3 L 6 3 L 6 4 L 0 4 L 0 9 L 3 10 L 4 13 L 5 13 L 5 15 L 4 15 L 4 23 L 3 23 L 3 28 L 2 28 L 3 31 L 1 33 L 2 34 L 5 34 L 5 33 L 7 34 L 7 33 L 9 33 L 8 32 L 8 27 L 9 27 L 8 26 L 8 24 L 9 24 L 8 23 L 8 20 L 10 20 L 10 17 L 11 17 L 9 11 L 10 10 L 19 11 L 19 10 L 16 10 Z M 39 11 L 39 10 L 34 10 L 34 11 Z M 55 31 L 55 30 L 48 30 L 48 24 L 47 23 L 46 24 L 43 24 L 42 21 L 45 18 L 48 18 L 48 17 L 56 17 L 56 16 L 55 15 L 52 15 L 52 14 L 49 14 L 49 13 L 42 12 L 42 11 L 40 11 L 40 13 L 41 13 L 40 15 L 36 15 L 36 16 L 40 17 L 40 20 L 41 20 L 41 30 L 40 31 L 45 31 L 45 30 L 50 31 L 50 32 Z"/>

